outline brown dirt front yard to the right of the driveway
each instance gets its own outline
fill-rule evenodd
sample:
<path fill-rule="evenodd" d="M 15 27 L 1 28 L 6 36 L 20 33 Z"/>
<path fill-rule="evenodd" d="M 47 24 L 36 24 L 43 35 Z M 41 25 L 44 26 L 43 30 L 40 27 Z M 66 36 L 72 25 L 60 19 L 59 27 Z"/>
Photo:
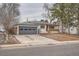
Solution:
<path fill-rule="evenodd" d="M 40 34 L 41 36 L 55 39 L 58 41 L 73 41 L 73 40 L 79 40 L 78 35 L 69 35 L 69 34 L 62 34 L 62 33 L 45 33 Z"/>

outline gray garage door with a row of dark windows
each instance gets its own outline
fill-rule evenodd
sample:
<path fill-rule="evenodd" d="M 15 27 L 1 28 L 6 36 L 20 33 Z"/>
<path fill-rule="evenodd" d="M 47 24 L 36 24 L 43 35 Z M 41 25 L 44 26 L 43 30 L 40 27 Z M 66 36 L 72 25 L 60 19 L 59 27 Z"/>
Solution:
<path fill-rule="evenodd" d="M 20 34 L 37 34 L 37 27 L 20 26 L 19 33 Z"/>

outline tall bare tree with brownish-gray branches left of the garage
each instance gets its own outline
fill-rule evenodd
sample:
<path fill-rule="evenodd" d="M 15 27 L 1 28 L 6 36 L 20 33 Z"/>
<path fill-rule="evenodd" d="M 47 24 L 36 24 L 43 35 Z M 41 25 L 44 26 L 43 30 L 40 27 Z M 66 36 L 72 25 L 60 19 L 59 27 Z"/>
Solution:
<path fill-rule="evenodd" d="M 16 17 L 18 16 L 19 16 L 19 4 L 4 3 L 2 4 L 2 7 L 0 7 L 0 23 L 4 27 L 7 37 L 10 34 L 9 30 L 17 22 Z"/>

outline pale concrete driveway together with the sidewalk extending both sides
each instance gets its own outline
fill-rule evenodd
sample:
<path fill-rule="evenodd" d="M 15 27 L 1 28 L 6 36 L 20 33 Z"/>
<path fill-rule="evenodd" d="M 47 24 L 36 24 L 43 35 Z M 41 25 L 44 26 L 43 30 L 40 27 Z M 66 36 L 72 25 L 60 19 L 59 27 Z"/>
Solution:
<path fill-rule="evenodd" d="M 64 44 L 74 44 L 79 43 L 77 41 L 56 41 L 53 39 L 49 39 L 46 37 L 38 36 L 38 35 L 17 35 L 15 36 L 17 40 L 21 42 L 21 44 L 11 44 L 11 45 L 0 45 L 1 48 L 18 48 L 18 47 L 32 47 L 32 46 L 47 46 L 47 45 L 64 45 Z"/>

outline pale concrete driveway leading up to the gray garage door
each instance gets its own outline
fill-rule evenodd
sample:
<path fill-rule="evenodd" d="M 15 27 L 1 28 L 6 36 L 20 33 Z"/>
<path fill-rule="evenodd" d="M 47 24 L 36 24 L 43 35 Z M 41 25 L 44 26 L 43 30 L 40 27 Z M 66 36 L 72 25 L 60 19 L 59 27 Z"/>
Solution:
<path fill-rule="evenodd" d="M 49 39 L 40 35 L 15 35 L 16 39 L 26 45 L 57 44 L 59 41 Z"/>

